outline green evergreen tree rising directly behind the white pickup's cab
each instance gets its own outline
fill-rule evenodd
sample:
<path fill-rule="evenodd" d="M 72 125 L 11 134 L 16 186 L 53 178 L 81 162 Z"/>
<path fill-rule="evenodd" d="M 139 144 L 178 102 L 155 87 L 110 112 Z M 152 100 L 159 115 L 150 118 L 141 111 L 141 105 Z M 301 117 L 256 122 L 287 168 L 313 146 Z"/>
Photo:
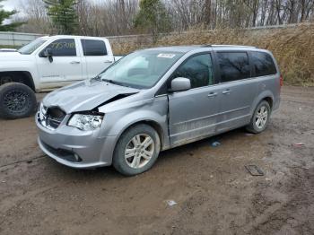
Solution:
<path fill-rule="evenodd" d="M 76 0 L 43 0 L 48 16 L 59 33 L 73 34 L 77 28 Z"/>

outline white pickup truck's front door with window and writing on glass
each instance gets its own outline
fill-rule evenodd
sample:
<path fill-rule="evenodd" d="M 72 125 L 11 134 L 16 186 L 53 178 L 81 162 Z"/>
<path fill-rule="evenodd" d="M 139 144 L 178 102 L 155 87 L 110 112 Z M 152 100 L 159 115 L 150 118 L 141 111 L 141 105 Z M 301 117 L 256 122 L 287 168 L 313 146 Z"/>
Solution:
<path fill-rule="evenodd" d="M 78 41 L 75 39 L 55 39 L 48 44 L 53 61 L 48 57 L 36 56 L 40 83 L 43 88 L 63 86 L 83 79 L 82 57 L 77 49 Z"/>

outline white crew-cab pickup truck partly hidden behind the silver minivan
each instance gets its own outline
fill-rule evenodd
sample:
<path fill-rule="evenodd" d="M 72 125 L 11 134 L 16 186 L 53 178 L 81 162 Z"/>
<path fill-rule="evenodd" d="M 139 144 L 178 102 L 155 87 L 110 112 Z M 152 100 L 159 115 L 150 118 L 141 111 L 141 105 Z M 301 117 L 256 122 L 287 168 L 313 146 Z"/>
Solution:
<path fill-rule="evenodd" d="M 118 58 L 108 39 L 82 36 L 45 36 L 16 51 L 0 51 L 0 117 L 30 116 L 35 92 L 92 78 Z"/>

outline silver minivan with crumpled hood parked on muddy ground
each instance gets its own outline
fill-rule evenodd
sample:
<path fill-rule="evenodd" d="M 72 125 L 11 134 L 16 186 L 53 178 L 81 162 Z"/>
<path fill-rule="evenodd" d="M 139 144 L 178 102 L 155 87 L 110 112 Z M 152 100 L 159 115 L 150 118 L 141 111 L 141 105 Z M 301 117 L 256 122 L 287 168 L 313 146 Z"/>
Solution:
<path fill-rule="evenodd" d="M 39 146 L 73 168 L 149 170 L 159 152 L 246 126 L 265 130 L 283 83 L 273 55 L 243 46 L 135 51 L 89 80 L 49 93 Z"/>

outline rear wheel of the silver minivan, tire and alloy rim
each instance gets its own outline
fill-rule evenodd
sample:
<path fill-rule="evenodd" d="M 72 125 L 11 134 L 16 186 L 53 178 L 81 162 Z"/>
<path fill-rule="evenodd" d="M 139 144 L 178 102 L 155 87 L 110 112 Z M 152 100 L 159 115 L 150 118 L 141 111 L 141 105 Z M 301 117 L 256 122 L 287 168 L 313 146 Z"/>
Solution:
<path fill-rule="evenodd" d="M 269 103 L 266 100 L 262 100 L 254 111 L 254 114 L 250 120 L 246 129 L 254 134 L 263 132 L 266 129 L 266 126 L 271 115 L 271 109 Z M 257 121 L 259 119 L 259 122 Z"/>

